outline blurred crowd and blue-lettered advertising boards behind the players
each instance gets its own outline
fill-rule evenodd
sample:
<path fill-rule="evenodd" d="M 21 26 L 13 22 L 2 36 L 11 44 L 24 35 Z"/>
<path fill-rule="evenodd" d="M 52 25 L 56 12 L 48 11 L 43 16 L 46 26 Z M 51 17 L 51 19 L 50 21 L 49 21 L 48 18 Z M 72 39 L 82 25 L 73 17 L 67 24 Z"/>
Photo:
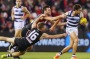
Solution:
<path fill-rule="evenodd" d="M 52 16 L 57 16 L 63 12 L 72 10 L 74 4 L 81 4 L 83 7 L 84 17 L 87 18 L 86 26 L 79 25 L 79 43 L 78 52 L 90 52 L 90 0 L 22 0 L 23 5 L 28 8 L 32 17 L 26 19 L 26 24 L 37 18 L 42 13 L 45 5 L 51 6 Z M 13 37 L 14 28 L 11 20 L 11 8 L 15 5 L 15 0 L 0 0 L 0 36 Z M 62 21 L 64 22 L 64 21 Z M 59 34 L 65 32 L 65 26 L 57 26 L 53 33 Z M 7 51 L 10 43 L 0 41 L 0 51 Z M 69 44 L 69 36 L 66 38 L 44 39 L 33 46 L 32 51 L 39 52 L 57 52 L 61 51 Z M 69 50 L 71 52 L 72 50 Z"/>

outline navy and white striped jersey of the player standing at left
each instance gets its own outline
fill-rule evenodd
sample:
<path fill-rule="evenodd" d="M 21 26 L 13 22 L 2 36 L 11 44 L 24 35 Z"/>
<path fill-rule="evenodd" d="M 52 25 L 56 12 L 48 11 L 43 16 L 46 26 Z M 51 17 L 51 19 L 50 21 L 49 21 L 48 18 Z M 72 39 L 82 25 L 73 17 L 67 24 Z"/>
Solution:
<path fill-rule="evenodd" d="M 14 6 L 13 10 L 14 10 L 14 19 L 15 19 L 15 21 L 23 21 L 23 20 L 21 20 L 21 17 L 24 15 L 22 7 L 23 6 L 17 8 L 16 6 Z"/>

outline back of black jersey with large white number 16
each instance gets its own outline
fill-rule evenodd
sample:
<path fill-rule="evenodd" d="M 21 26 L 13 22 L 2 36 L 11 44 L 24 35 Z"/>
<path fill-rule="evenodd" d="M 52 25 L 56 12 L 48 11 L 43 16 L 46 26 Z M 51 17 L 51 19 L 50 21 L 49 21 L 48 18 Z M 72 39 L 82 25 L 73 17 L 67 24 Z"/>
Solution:
<path fill-rule="evenodd" d="M 26 36 L 26 39 L 32 45 L 38 42 L 40 40 L 40 37 L 42 36 L 42 32 L 36 28 L 33 28 L 32 30 L 30 30 L 30 32 L 27 32 L 27 34 L 28 35 Z"/>

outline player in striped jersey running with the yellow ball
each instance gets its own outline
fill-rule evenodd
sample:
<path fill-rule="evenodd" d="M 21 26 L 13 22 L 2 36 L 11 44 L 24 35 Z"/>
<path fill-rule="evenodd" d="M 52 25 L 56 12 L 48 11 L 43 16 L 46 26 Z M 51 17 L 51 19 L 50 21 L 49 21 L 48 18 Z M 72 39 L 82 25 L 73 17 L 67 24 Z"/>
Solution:
<path fill-rule="evenodd" d="M 66 12 L 61 15 L 62 18 L 66 18 L 66 33 L 70 35 L 70 45 L 65 47 L 61 52 L 54 56 L 54 59 L 58 59 L 63 53 L 67 52 L 69 49 L 73 49 L 73 54 L 71 59 L 77 59 L 76 50 L 78 45 L 78 23 L 83 17 L 82 7 L 79 4 L 73 6 L 73 10 Z"/>

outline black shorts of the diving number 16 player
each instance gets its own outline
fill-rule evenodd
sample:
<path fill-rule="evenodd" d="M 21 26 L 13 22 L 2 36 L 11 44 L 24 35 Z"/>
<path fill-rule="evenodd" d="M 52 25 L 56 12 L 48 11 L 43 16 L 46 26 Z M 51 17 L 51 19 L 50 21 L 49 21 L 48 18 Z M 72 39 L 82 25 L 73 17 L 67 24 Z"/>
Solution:
<path fill-rule="evenodd" d="M 14 42 L 19 51 L 25 51 L 30 46 L 26 38 L 15 38 Z"/>

